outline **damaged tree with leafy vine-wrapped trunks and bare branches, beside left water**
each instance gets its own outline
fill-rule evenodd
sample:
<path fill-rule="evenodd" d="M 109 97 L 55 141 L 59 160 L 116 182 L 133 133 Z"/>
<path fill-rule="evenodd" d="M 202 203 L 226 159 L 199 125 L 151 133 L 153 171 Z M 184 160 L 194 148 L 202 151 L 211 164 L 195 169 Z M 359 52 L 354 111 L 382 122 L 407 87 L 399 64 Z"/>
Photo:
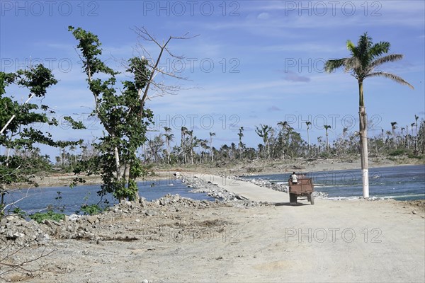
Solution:
<path fill-rule="evenodd" d="M 100 142 L 94 144 L 101 152 L 96 161 L 103 180 L 100 193 L 111 192 L 118 200 L 135 200 L 139 197 L 136 178 L 147 173 L 137 157 L 137 150 L 147 141 L 148 126 L 153 123 L 152 110 L 146 108 L 145 103 L 151 98 L 151 89 L 155 91 L 154 96 L 179 91 L 179 86 L 168 86 L 154 81 L 154 78 L 157 74 L 163 74 L 183 79 L 172 72 L 159 69 L 158 66 L 165 53 L 181 58 L 171 54 L 168 45 L 171 40 L 188 37 L 170 36 L 161 44 L 145 28 L 136 28 L 135 32 L 143 40 L 159 47 L 159 54 L 157 59 L 147 59 L 150 56 L 145 57 L 145 54 L 149 53 L 140 45 L 141 56 L 132 57 L 126 64 L 126 71 L 132 74 L 133 80 L 122 81 L 117 86 L 115 76 L 119 74 L 118 71 L 107 67 L 99 58 L 102 49 L 98 37 L 82 28 L 69 26 L 69 31 L 79 41 L 77 48 L 81 52 L 89 89 L 94 96 L 95 108 L 92 115 L 99 118 L 106 130 Z M 105 76 L 108 79 L 101 79 Z M 80 173 L 83 169 L 80 167 L 75 173 Z"/>

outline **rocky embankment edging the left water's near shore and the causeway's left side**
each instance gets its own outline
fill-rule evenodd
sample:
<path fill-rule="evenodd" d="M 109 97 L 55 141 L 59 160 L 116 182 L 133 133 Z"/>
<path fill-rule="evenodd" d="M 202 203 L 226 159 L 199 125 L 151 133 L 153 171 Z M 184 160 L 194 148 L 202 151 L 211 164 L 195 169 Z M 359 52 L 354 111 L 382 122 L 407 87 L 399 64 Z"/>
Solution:
<path fill-rule="evenodd" d="M 40 224 L 16 214 L 8 215 L 0 220 L 0 246 L 24 246 L 28 243 L 40 246 L 53 238 L 95 242 L 134 241 L 141 237 L 162 238 L 162 229 L 151 228 L 162 226 L 164 219 L 174 221 L 172 225 L 167 225 L 168 228 L 183 225 L 198 229 L 183 211 L 220 206 L 243 208 L 263 205 L 196 177 L 182 178 L 188 187 L 193 187 L 191 192 L 204 192 L 217 200 L 191 200 L 180 195 L 165 195 L 152 202 L 141 198 L 138 202 L 121 202 L 101 214 L 72 214 L 66 216 L 64 221 L 44 220 Z M 126 224 L 123 225 L 122 222 Z"/>

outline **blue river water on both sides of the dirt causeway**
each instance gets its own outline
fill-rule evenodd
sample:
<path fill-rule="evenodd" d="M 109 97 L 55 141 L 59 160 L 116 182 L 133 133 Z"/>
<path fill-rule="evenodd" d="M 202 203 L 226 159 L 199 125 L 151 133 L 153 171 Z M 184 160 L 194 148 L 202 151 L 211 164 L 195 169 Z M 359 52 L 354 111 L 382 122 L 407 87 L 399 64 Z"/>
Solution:
<path fill-rule="evenodd" d="M 286 183 L 290 173 L 275 175 L 258 175 L 246 178 L 262 178 L 271 182 Z M 361 171 L 341 170 L 307 173 L 313 178 L 314 190 L 326 192 L 331 199 L 358 198 L 363 195 L 361 185 Z M 153 185 L 152 185 L 153 184 Z M 189 192 L 181 180 L 155 180 L 138 183 L 139 195 L 147 200 L 155 200 L 166 194 L 179 194 L 193 200 L 214 200 L 203 193 Z M 392 198 L 395 200 L 424 200 L 425 199 L 425 165 L 397 166 L 387 168 L 370 168 L 369 170 L 370 197 Z M 100 200 L 96 192 L 99 185 L 84 185 L 74 188 L 69 187 L 44 187 L 28 190 L 28 197 L 16 204 L 28 214 L 39 212 L 51 206 L 58 211 L 64 209 L 65 214 L 75 213 L 81 204 L 97 204 Z M 60 192 L 60 195 L 57 194 Z M 5 202 L 11 203 L 27 194 L 27 190 L 15 191 L 5 195 Z M 57 197 L 62 197 L 56 200 Z M 110 204 L 117 201 L 106 195 L 103 201 Z M 103 206 L 106 206 L 101 202 Z"/>

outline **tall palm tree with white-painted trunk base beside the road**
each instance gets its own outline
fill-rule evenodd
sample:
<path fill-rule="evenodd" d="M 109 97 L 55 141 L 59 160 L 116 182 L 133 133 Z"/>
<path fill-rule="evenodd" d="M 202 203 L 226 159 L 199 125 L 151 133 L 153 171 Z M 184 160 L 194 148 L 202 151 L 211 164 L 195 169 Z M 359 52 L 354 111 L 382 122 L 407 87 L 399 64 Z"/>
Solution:
<path fill-rule="evenodd" d="M 329 73 L 339 67 L 344 67 L 346 72 L 351 72 L 358 81 L 358 115 L 359 115 L 359 134 L 360 134 L 360 156 L 363 180 L 363 197 L 369 197 L 369 170 L 368 170 L 368 118 L 365 110 L 365 102 L 363 98 L 363 81 L 369 77 L 383 76 L 392 79 L 397 83 L 413 88 L 413 86 L 404 81 L 395 74 L 384 71 L 377 71 L 375 68 L 387 62 L 394 62 L 403 58 L 402 54 L 387 54 L 390 51 L 390 42 L 379 42 L 373 44 L 372 38 L 368 37 L 368 33 L 364 33 L 358 40 L 357 46 L 350 40 L 347 40 L 346 46 L 351 53 L 351 57 L 342 59 L 328 60 L 325 64 L 325 70 Z"/>

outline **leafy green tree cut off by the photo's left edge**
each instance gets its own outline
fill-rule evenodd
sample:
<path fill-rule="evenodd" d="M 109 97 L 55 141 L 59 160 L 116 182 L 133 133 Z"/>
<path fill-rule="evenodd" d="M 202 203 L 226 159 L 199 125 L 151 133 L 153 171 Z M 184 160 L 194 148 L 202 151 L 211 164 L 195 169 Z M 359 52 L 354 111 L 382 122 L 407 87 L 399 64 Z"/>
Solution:
<path fill-rule="evenodd" d="M 44 126 L 58 125 L 58 121 L 53 117 L 55 112 L 47 105 L 29 103 L 34 97 L 42 101 L 47 88 L 56 83 L 52 72 L 41 64 L 15 73 L 0 71 L 0 146 L 6 149 L 6 154 L 0 155 L 0 191 L 6 190 L 6 185 L 13 183 L 38 186 L 35 175 L 45 174 L 51 167 L 49 156 L 41 156 L 38 145 L 58 147 L 62 144 L 70 146 L 78 143 L 55 141 L 50 132 L 43 132 Z M 25 103 L 20 104 L 13 96 L 7 96 L 6 88 L 13 85 L 29 91 Z M 76 122 L 71 117 L 65 118 L 75 128 L 84 127 L 81 122 Z M 3 196 L 3 192 L 0 194 Z M 6 205 L 3 201 L 2 197 L 0 214 L 11 205 Z"/>

